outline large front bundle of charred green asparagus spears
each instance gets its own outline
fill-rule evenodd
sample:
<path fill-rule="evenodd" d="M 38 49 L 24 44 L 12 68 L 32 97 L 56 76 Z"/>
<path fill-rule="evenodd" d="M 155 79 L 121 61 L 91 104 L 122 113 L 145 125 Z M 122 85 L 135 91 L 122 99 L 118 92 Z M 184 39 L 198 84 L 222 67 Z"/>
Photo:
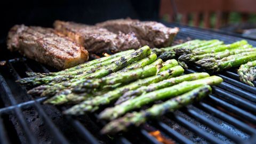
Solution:
<path fill-rule="evenodd" d="M 99 118 L 113 120 L 102 133 L 116 133 L 202 99 L 211 92 L 209 85 L 222 82 L 218 76 L 183 75 L 183 71 L 177 60 L 163 62 L 148 46 L 143 46 L 57 73 L 27 73 L 30 77 L 19 83 L 37 86 L 28 93 L 49 97 L 44 103 L 73 104 L 64 114 L 82 115 L 112 106 L 101 111 Z M 129 113 L 158 100 L 167 101 Z"/>

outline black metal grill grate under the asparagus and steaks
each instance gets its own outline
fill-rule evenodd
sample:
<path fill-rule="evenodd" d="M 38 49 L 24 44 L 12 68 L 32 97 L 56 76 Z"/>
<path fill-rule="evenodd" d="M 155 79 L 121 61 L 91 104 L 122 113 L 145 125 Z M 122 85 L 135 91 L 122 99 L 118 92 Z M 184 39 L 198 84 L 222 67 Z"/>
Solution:
<path fill-rule="evenodd" d="M 176 39 L 220 39 L 225 43 L 243 39 L 174 23 L 165 25 L 180 27 Z M 256 46 L 253 39 L 246 40 Z M 97 114 L 63 116 L 60 107 L 42 105 L 46 98 L 33 98 L 15 83 L 26 76 L 25 71 L 47 73 L 54 69 L 7 51 L 4 42 L 0 50 L 1 59 L 6 60 L 0 73 L 1 143 L 161 143 L 152 134 L 156 131 L 169 143 L 256 143 L 256 88 L 239 82 L 235 69 L 218 74 L 224 82 L 213 86 L 213 93 L 201 102 L 110 137 L 100 135 L 106 123 L 97 121 Z M 195 71 L 202 69 L 190 66 L 185 73 Z"/>

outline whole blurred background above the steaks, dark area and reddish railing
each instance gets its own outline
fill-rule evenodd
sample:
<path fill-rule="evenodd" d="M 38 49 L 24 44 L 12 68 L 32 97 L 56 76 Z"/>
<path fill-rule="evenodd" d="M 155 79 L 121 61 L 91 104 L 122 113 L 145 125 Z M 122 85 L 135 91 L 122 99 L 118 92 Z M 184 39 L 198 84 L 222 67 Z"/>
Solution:
<path fill-rule="evenodd" d="M 255 0 L 1 1 L 0 38 L 17 24 L 52 27 L 54 20 L 87 24 L 130 17 L 212 28 L 256 38 Z"/>

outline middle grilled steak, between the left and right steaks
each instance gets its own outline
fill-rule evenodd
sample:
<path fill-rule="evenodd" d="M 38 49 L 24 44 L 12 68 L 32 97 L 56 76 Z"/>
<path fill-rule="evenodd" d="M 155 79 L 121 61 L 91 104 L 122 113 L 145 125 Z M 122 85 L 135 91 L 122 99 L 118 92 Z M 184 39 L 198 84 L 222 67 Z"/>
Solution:
<path fill-rule="evenodd" d="M 132 31 L 127 34 L 121 32 L 115 34 L 105 28 L 59 20 L 54 22 L 54 28 L 93 53 L 119 52 L 127 49 L 138 49 L 141 46 Z"/>

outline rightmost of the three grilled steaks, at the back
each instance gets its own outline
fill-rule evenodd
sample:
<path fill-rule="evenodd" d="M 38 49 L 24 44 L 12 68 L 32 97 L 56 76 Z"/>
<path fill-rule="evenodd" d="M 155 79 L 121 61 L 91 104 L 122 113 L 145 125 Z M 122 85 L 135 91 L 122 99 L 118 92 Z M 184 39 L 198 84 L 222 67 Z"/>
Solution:
<path fill-rule="evenodd" d="M 106 28 L 113 33 L 121 31 L 128 34 L 132 31 L 139 38 L 141 45 L 150 47 L 169 46 L 179 31 L 179 28 L 168 28 L 155 21 L 143 22 L 131 19 L 109 20 L 98 23 L 97 26 Z"/>

